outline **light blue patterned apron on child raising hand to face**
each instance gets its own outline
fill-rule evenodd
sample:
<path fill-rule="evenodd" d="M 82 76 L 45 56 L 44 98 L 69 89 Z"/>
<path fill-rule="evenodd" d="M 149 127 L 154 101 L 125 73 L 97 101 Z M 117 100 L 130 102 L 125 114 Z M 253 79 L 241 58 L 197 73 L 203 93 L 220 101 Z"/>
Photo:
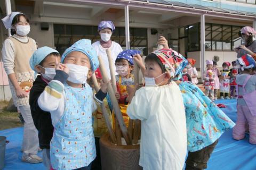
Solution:
<path fill-rule="evenodd" d="M 92 128 L 92 89 L 65 85 L 66 105 L 55 125 L 51 140 L 53 169 L 76 169 L 88 166 L 96 157 Z"/>

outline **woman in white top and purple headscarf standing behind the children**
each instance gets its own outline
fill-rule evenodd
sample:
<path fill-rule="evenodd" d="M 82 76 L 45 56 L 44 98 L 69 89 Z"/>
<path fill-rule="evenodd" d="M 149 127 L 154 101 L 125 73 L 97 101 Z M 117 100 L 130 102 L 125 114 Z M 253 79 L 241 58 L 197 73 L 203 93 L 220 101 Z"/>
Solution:
<path fill-rule="evenodd" d="M 98 26 L 100 40 L 92 44 L 92 47 L 96 51 L 97 55 L 102 57 L 109 79 L 111 77 L 110 77 L 108 56 L 106 53 L 106 49 L 109 48 L 111 50 L 111 57 L 114 64 L 115 64 L 117 55 L 123 52 L 122 47 L 118 43 L 116 43 L 115 41 L 111 41 L 110 39 L 114 31 L 115 31 L 115 26 L 112 21 L 101 21 Z M 115 65 L 113 65 L 113 67 L 115 68 Z"/>

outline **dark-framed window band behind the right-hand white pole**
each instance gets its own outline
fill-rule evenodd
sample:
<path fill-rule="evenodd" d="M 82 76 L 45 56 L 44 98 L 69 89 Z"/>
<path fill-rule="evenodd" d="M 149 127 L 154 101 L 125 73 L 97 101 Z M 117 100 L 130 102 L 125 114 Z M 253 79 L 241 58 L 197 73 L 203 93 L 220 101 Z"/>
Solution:
<path fill-rule="evenodd" d="M 205 50 L 234 50 L 234 47 L 241 45 L 241 37 L 238 36 L 241 28 L 233 25 L 205 23 Z M 185 33 L 186 30 L 187 33 Z M 179 29 L 179 52 L 185 50 L 183 53 L 186 54 L 199 51 L 199 42 L 200 23 Z"/>

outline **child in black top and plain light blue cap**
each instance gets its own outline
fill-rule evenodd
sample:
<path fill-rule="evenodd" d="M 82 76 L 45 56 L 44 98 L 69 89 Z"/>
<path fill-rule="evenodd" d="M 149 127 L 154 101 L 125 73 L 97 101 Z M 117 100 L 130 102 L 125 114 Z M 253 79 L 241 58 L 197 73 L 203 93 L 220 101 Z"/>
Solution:
<path fill-rule="evenodd" d="M 55 61 L 60 62 L 60 54 L 50 47 L 41 47 L 31 56 L 29 64 L 31 69 L 39 73 L 33 83 L 29 94 L 29 105 L 34 124 L 38 130 L 39 147 L 43 149 L 43 163 L 50 169 L 50 141 L 53 126 L 50 112 L 43 111 L 37 103 L 39 96 L 47 84 L 55 77 Z"/>

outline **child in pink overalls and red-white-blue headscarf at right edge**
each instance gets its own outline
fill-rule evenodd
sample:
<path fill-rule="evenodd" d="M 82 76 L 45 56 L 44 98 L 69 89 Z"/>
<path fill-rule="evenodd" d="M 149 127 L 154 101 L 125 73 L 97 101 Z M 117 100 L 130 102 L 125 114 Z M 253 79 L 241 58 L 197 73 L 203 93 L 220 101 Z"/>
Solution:
<path fill-rule="evenodd" d="M 237 121 L 233 129 L 233 138 L 244 139 L 245 124 L 248 122 L 251 144 L 256 145 L 256 62 L 246 54 L 237 60 L 242 73 L 237 75 L 238 84 Z"/>

